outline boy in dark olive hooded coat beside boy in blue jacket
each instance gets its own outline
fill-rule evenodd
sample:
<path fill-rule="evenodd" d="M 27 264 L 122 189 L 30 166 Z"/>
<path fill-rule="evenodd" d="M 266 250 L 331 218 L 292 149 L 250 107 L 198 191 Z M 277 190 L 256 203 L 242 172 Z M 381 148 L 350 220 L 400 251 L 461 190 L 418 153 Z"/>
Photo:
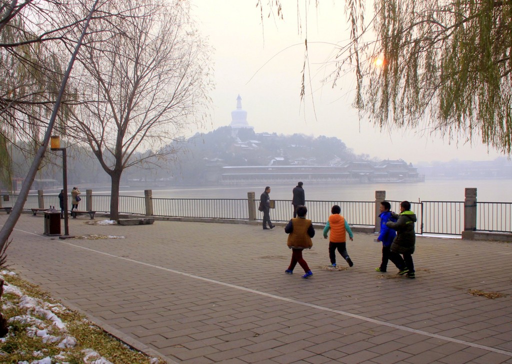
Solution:
<path fill-rule="evenodd" d="M 414 231 L 414 223 L 417 221 L 416 214 L 411 211 L 411 203 L 409 201 L 400 202 L 400 214 L 392 212 L 391 216 L 397 219 L 396 222 L 388 221 L 387 227 L 396 230 L 396 238 L 391 244 L 391 254 L 397 257 L 400 265 L 405 265 L 405 269 L 398 272 L 399 275 L 407 274 L 409 278 L 415 278 L 413 256 L 414 245 L 416 244 L 416 233 Z M 403 255 L 403 259 L 400 256 Z M 404 264 L 401 264 L 401 263 Z"/>

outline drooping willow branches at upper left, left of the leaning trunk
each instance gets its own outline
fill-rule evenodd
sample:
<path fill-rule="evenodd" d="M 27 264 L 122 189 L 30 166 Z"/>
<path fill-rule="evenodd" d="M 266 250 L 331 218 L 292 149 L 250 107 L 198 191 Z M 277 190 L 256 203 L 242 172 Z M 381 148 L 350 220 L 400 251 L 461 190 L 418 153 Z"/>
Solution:
<path fill-rule="evenodd" d="M 59 11 L 64 4 L 51 4 L 0 0 L 0 176 L 5 181 L 12 172 L 9 146 L 19 145 L 11 141 L 28 142 L 25 145 L 31 147 L 23 150 L 27 158 L 37 150 L 60 89 L 63 72 L 58 54 L 62 52 L 56 45 L 65 31 L 52 29 L 66 28 Z M 68 15 L 73 13 L 69 10 Z M 73 101 L 74 94 L 68 93 L 66 99 Z M 65 103 L 58 118 L 59 130 L 64 130 L 68 117 Z"/>

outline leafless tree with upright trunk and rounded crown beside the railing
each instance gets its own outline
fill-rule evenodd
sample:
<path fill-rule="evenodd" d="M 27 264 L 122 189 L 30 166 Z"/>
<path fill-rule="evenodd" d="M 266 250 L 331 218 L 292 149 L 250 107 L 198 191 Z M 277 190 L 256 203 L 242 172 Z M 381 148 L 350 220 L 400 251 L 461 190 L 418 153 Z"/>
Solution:
<path fill-rule="evenodd" d="M 75 85 L 82 99 L 94 101 L 77 107 L 70 132 L 90 145 L 111 177 L 110 211 L 117 219 L 123 170 L 172 153 L 161 146 L 201 122 L 210 81 L 208 49 L 186 2 L 127 0 L 113 6 L 130 9 L 129 20 L 119 25 L 121 31 L 95 31 L 101 22 L 91 29 Z M 144 150 L 150 153 L 135 157 Z"/>

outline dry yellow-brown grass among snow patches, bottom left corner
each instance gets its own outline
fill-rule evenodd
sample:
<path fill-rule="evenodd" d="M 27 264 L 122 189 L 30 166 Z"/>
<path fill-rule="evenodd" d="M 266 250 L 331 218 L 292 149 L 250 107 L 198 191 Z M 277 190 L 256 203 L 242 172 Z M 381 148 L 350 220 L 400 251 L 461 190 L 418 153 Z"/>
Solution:
<path fill-rule="evenodd" d="M 27 308 L 20 307 L 21 297 L 13 293 L 4 293 L 2 296 L 2 313 L 6 319 L 30 314 L 32 318 L 37 318 L 38 323 L 34 324 L 29 320 L 10 320 L 9 333 L 0 342 L 0 362 L 18 363 L 19 361 L 32 362 L 45 357 L 50 357 L 51 362 L 68 362 L 78 364 L 84 362 L 94 362 L 94 359 L 85 361 L 86 352 L 83 350 L 93 350 L 106 360 L 114 364 L 140 363 L 140 364 L 163 364 L 163 360 L 151 358 L 136 350 L 127 347 L 125 344 L 105 333 L 99 327 L 89 322 L 83 315 L 71 311 L 62 306 L 53 299 L 47 292 L 39 289 L 38 286 L 30 284 L 16 275 L 4 274 L 5 281 L 18 287 L 29 297 L 38 298 L 45 303 L 52 305 L 52 312 L 66 325 L 66 329 L 59 331 L 52 321 L 44 315 L 28 312 Z M 54 306 L 53 306 L 54 305 Z M 36 326 L 34 328 L 34 326 Z M 46 329 L 54 336 L 72 336 L 77 344 L 72 348 L 61 349 L 56 342 L 43 342 L 44 340 L 34 333 L 34 329 Z"/>

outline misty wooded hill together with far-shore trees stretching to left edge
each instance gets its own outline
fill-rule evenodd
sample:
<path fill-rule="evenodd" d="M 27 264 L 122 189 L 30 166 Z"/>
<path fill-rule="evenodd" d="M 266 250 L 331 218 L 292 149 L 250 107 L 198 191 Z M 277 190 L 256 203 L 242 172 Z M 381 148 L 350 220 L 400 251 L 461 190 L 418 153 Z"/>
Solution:
<path fill-rule="evenodd" d="M 202 185 L 206 175 L 222 166 L 336 166 L 347 162 L 378 163 L 377 158 L 356 155 L 340 139 L 303 134 L 254 133 L 251 129 L 223 126 L 209 133 L 168 143 L 161 150 L 136 152 L 132 158 L 144 162 L 126 168 L 121 177 L 125 185 Z M 49 152 L 46 164 L 36 176 L 33 189 L 61 188 L 61 156 Z M 29 168 L 23 154 L 13 153 L 15 178 L 23 178 Z M 79 144 L 68 148 L 70 186 L 109 186 L 110 177 L 89 148 Z M 7 190 L 6 186 L 0 186 Z"/>

